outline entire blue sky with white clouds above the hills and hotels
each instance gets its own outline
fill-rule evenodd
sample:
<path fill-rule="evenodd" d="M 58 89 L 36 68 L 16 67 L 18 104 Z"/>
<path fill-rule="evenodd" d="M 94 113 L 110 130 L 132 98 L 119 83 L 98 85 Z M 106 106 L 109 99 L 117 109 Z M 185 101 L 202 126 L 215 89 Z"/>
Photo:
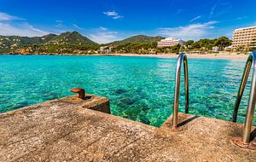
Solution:
<path fill-rule="evenodd" d="M 97 43 L 137 34 L 232 37 L 256 26 L 256 0 L 0 0 L 0 35 L 78 31 Z"/>

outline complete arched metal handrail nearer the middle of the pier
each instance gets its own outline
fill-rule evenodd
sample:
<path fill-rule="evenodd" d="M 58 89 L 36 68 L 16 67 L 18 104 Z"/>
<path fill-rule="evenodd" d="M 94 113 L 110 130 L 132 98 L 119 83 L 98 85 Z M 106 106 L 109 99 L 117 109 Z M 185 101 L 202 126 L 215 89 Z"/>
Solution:
<path fill-rule="evenodd" d="M 178 130 L 177 129 L 177 113 L 178 113 L 179 85 L 180 85 L 180 74 L 181 74 L 182 63 L 184 68 L 184 84 L 185 84 L 185 95 L 186 95 L 185 113 L 189 113 L 188 58 L 186 53 L 182 52 L 178 55 L 178 58 L 177 58 L 175 88 L 174 88 L 174 105 L 173 105 L 173 112 L 172 112 L 172 130 Z"/>

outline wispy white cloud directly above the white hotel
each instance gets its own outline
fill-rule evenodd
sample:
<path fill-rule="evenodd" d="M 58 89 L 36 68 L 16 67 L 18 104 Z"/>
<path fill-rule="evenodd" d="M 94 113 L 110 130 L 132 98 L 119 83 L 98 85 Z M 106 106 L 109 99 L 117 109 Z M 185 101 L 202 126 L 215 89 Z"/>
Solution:
<path fill-rule="evenodd" d="M 209 30 L 214 28 L 212 25 L 216 23 L 217 21 L 212 20 L 202 24 L 191 24 L 189 26 L 159 28 L 158 34 L 166 37 L 182 38 L 184 40 L 199 39 L 202 37 L 207 37 Z"/>

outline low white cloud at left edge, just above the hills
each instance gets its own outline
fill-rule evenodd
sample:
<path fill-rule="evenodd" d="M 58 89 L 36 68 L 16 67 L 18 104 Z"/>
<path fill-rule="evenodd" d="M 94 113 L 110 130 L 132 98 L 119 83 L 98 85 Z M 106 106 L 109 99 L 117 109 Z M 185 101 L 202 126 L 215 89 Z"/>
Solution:
<path fill-rule="evenodd" d="M 13 25 L 0 22 L 0 35 L 36 37 L 49 34 L 29 24 Z"/>

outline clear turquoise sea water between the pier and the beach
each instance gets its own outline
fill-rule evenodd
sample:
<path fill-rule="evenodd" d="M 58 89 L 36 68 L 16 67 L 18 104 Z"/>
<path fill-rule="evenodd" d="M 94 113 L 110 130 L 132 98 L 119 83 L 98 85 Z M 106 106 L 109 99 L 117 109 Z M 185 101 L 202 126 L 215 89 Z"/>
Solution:
<path fill-rule="evenodd" d="M 151 57 L 0 55 L 0 113 L 73 95 L 69 89 L 83 87 L 87 93 L 108 97 L 114 115 L 160 126 L 172 112 L 176 61 Z M 230 120 L 244 66 L 245 61 L 189 59 L 189 113 Z M 249 87 L 250 81 L 239 111 L 241 123 Z M 183 112 L 183 82 L 180 95 L 179 108 Z"/>

